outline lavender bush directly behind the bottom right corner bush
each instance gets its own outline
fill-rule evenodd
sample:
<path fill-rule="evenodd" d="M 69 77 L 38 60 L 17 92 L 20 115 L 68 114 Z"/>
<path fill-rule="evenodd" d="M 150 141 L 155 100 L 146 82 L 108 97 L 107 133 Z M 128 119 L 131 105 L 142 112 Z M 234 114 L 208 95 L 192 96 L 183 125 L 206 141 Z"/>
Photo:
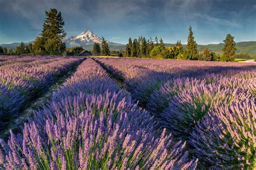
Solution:
<path fill-rule="evenodd" d="M 221 88 L 217 84 L 198 84 L 170 97 L 168 108 L 159 114 L 160 122 L 173 134 L 186 137 L 210 109 L 248 97 L 250 94 L 238 89 Z"/>

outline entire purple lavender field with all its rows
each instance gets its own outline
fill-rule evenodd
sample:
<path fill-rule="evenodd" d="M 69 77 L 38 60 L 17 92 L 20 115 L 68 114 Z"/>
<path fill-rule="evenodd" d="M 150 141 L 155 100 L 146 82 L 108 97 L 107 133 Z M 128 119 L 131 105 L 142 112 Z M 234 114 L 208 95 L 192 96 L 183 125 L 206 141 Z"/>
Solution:
<path fill-rule="evenodd" d="M 253 169 L 255 73 L 255 63 L 1 56 L 0 168 Z"/>

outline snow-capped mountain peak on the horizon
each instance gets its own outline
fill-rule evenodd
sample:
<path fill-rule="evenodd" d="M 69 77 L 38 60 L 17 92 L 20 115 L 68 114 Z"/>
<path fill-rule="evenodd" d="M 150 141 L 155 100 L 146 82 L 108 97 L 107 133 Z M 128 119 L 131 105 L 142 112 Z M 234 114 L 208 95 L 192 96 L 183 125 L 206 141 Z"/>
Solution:
<path fill-rule="evenodd" d="M 99 38 L 95 33 L 90 30 L 84 30 L 82 33 L 77 36 L 66 37 L 63 39 L 66 42 L 66 46 L 76 47 L 76 46 L 85 46 L 92 45 L 94 42 L 102 43 L 102 38 Z M 114 42 L 107 41 L 109 44 L 116 44 Z"/>

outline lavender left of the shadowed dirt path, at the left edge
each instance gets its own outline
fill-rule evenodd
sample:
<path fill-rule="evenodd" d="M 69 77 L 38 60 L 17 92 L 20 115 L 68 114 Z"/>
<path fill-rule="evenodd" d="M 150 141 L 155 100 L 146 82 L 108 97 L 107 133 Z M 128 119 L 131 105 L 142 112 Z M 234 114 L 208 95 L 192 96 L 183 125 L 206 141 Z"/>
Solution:
<path fill-rule="evenodd" d="M 0 122 L 9 121 L 26 103 L 42 93 L 57 75 L 78 63 L 75 58 L 1 56 Z"/>

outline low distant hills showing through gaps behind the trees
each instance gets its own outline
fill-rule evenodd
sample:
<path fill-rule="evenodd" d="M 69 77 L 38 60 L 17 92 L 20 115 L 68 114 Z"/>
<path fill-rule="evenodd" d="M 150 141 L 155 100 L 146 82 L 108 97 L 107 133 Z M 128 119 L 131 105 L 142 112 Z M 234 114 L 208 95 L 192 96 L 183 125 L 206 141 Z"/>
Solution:
<path fill-rule="evenodd" d="M 20 44 L 19 42 L 14 42 L 12 44 L 0 44 L 0 46 L 6 47 L 8 49 L 10 48 L 14 49 L 19 44 Z M 170 45 L 174 45 L 174 44 L 165 44 L 166 47 L 169 47 Z M 206 46 L 212 52 L 222 53 L 222 48 L 224 44 L 220 43 L 220 44 L 198 45 L 198 51 L 199 52 L 204 51 L 204 48 Z M 82 45 L 82 47 L 87 50 L 92 50 L 93 44 Z M 186 45 L 183 45 L 183 47 L 186 47 Z M 115 51 L 120 51 L 120 49 L 125 51 L 125 45 L 123 44 L 110 43 L 109 48 L 110 50 L 115 50 Z M 237 51 L 235 51 L 235 53 L 237 54 L 249 53 L 251 55 L 256 55 L 256 41 L 237 42 L 236 48 L 237 48 Z"/>

